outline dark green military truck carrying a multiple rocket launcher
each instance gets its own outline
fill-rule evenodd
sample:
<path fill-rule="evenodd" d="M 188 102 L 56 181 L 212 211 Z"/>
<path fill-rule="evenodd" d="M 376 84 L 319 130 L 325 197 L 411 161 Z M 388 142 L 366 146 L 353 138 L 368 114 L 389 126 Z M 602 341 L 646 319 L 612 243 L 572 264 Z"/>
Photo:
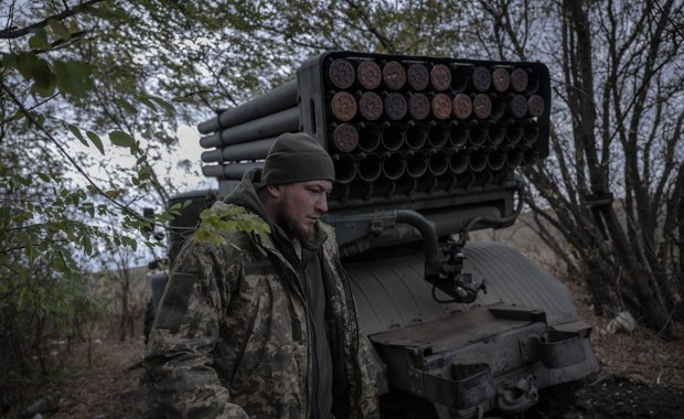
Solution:
<path fill-rule="evenodd" d="M 548 155 L 541 63 L 331 51 L 297 78 L 199 125 L 203 174 L 171 222 L 169 259 L 202 208 L 263 164 L 282 132 L 330 153 L 324 221 L 377 370 L 384 417 L 475 418 L 535 409 L 598 370 L 568 290 L 514 249 L 470 233 L 513 225 L 517 171 Z M 152 276 L 154 308 L 167 275 Z M 151 310 L 153 314 L 153 309 Z"/>

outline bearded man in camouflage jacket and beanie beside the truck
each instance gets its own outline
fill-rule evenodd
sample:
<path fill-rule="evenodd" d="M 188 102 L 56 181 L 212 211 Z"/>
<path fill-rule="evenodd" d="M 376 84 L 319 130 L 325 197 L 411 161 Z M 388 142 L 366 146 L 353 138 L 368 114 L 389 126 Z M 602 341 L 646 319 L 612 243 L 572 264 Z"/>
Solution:
<path fill-rule="evenodd" d="M 373 418 L 377 389 L 328 211 L 330 155 L 284 133 L 224 202 L 270 233 L 189 240 L 145 366 L 168 417 Z"/>

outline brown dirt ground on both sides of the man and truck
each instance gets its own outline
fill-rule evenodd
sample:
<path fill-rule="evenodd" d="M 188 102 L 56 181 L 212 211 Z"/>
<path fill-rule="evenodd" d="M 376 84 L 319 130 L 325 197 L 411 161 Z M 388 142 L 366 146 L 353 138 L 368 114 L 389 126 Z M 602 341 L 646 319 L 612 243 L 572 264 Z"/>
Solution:
<path fill-rule="evenodd" d="M 682 418 L 684 417 L 684 329 L 664 342 L 637 326 L 632 334 L 609 334 L 610 319 L 592 315 L 581 290 L 573 289 L 581 318 L 592 324 L 592 345 L 601 372 L 589 377 L 577 400 L 557 400 L 548 418 Z M 105 341 L 94 348 L 93 365 L 74 354 L 75 373 L 52 395 L 58 407 L 43 418 L 158 418 L 158 409 L 140 366 L 142 336 L 127 343 Z M 17 417 L 17 416 L 13 416 Z"/>

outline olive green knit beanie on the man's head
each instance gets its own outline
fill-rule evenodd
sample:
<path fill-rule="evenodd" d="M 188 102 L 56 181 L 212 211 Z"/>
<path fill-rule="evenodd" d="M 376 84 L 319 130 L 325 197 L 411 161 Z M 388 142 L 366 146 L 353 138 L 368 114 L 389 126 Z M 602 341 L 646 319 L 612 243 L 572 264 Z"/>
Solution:
<path fill-rule="evenodd" d="M 308 133 L 280 135 L 266 155 L 261 185 L 319 180 L 335 180 L 335 169 L 328 152 Z"/>

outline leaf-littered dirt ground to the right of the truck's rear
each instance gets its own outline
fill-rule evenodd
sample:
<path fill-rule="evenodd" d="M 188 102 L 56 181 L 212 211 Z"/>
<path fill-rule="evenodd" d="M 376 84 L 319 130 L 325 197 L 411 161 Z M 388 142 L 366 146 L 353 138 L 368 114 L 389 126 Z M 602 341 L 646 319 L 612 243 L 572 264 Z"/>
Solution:
<path fill-rule="evenodd" d="M 594 315 L 588 296 L 579 287 L 569 288 L 580 316 L 594 326 L 591 344 L 601 372 L 586 380 L 562 417 L 684 418 L 684 325 L 674 325 L 673 342 L 640 325 L 631 334 L 610 334 L 611 319 Z"/>

